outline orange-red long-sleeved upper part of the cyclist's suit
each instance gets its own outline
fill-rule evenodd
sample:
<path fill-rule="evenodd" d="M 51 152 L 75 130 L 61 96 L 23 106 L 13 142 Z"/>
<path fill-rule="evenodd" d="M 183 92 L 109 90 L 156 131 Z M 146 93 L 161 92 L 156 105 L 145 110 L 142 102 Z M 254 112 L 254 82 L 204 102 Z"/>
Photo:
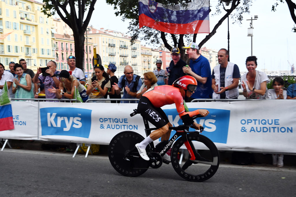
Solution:
<path fill-rule="evenodd" d="M 175 103 L 180 117 L 185 114 L 189 114 L 190 117 L 199 114 L 199 110 L 185 112 L 183 104 L 184 98 L 182 97 L 178 87 L 173 87 L 169 85 L 156 86 L 148 89 L 143 94 L 143 96 L 147 97 L 152 105 L 156 108 Z"/>

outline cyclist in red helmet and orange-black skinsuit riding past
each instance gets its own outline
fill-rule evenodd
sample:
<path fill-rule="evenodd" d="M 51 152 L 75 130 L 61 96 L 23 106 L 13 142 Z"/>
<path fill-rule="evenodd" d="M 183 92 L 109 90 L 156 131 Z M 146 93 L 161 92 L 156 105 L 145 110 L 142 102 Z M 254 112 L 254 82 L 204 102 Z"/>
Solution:
<path fill-rule="evenodd" d="M 169 140 L 170 124 L 168 117 L 165 115 L 164 111 L 160 108 L 164 105 L 176 104 L 176 109 L 179 116 L 189 114 L 190 117 L 200 114 L 202 116 L 207 116 L 209 111 L 206 109 L 199 109 L 192 112 L 185 112 L 184 108 L 184 97 L 190 97 L 197 87 L 197 81 L 192 76 L 182 76 L 177 79 L 173 86 L 163 85 L 156 86 L 148 89 L 139 100 L 138 111 L 141 113 L 143 118 L 146 118 L 154 126 L 159 129 L 156 129 L 148 137 L 146 137 L 142 142 L 136 144 L 136 148 L 139 151 L 140 156 L 149 160 L 149 157 L 146 153 L 146 146 L 149 142 L 153 142 L 161 137 L 161 141 Z M 195 129 L 200 129 L 200 124 L 192 122 L 192 126 Z M 163 159 L 170 161 L 170 157 L 165 154 Z"/>

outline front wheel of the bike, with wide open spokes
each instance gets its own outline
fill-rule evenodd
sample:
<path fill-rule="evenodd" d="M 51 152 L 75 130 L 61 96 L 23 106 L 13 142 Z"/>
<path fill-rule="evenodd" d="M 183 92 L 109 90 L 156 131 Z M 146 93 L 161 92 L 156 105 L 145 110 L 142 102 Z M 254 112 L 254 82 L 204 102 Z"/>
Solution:
<path fill-rule="evenodd" d="M 215 144 L 200 134 L 188 134 L 188 142 L 194 152 L 195 160 L 191 160 L 180 137 L 173 145 L 171 161 L 175 171 L 184 179 L 202 182 L 211 178 L 219 167 L 219 152 Z"/>

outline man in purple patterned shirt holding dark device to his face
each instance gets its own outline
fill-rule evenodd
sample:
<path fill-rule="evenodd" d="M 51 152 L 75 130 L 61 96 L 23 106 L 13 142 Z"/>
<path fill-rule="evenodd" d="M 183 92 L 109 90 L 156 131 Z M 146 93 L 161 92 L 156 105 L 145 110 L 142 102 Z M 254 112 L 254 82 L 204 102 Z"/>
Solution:
<path fill-rule="evenodd" d="M 56 76 L 59 74 L 59 71 L 57 71 L 57 63 L 54 61 L 49 61 L 47 64 L 47 69 L 45 72 L 48 74 L 47 76 L 43 76 L 41 73 L 41 68 L 38 68 L 36 75 L 33 77 L 33 82 L 35 84 L 38 83 L 44 83 L 44 91 L 45 91 L 45 98 L 47 99 L 56 99 L 56 94 L 51 93 L 48 91 L 49 88 L 54 87 L 55 89 L 59 88 L 59 78 Z M 40 75 L 41 74 L 41 75 Z M 58 102 L 58 101 L 57 101 Z"/>

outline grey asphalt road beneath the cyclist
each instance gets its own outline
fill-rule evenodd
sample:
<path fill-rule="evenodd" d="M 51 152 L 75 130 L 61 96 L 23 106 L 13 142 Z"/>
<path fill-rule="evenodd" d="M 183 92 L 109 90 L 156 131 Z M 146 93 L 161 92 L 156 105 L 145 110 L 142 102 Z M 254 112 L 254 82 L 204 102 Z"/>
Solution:
<path fill-rule="evenodd" d="M 71 153 L 0 151 L 3 197 L 52 196 L 296 196 L 296 169 L 221 164 L 205 182 L 188 182 L 169 164 L 139 177 L 124 177 L 107 156 L 72 158 Z"/>

